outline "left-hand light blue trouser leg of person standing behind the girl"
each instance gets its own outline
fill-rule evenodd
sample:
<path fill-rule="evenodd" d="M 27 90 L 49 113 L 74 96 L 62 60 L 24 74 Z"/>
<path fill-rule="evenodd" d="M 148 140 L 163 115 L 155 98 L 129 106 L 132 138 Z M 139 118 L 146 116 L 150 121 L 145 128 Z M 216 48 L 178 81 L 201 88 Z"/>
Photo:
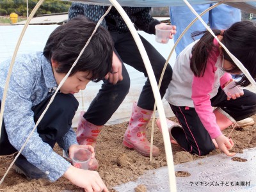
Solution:
<path fill-rule="evenodd" d="M 195 4 L 193 8 L 195 11 L 200 14 L 204 12 L 207 8 L 209 8 L 210 4 Z M 189 10 L 188 6 L 171 6 L 170 7 L 170 19 L 171 23 L 177 26 L 177 33 L 173 36 L 174 42 L 177 42 L 177 39 L 181 35 L 181 33 L 186 29 L 186 27 L 191 23 L 193 19 L 195 19 L 194 13 Z M 209 14 L 205 13 L 202 16 L 202 19 L 208 23 Z M 183 49 L 191 44 L 194 40 L 191 38 L 191 33 L 194 31 L 204 31 L 205 27 L 200 22 L 200 20 L 196 20 L 196 22 L 188 29 L 188 31 L 184 34 L 184 36 L 180 39 L 179 44 L 177 45 L 175 51 L 178 56 Z M 200 36 L 196 36 L 195 39 L 200 38 Z"/>

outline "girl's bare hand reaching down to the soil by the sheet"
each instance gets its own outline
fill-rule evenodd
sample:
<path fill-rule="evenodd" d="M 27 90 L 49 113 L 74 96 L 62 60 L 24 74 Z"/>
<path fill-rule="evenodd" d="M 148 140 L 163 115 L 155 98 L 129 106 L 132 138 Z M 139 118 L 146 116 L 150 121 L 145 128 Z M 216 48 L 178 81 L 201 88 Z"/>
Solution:
<path fill-rule="evenodd" d="M 231 150 L 234 147 L 234 143 L 231 139 L 228 139 L 226 136 L 221 134 L 215 138 L 216 143 L 221 151 L 223 151 L 227 156 L 234 156 L 236 153 L 230 153 L 228 150 Z"/>

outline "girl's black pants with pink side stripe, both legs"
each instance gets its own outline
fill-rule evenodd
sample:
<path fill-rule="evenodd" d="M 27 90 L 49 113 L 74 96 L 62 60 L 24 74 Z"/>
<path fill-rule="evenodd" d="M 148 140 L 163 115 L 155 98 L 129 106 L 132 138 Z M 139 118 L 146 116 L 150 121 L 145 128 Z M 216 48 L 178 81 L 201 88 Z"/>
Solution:
<path fill-rule="evenodd" d="M 256 94 L 244 90 L 243 96 L 227 100 L 227 95 L 220 88 L 217 95 L 211 99 L 211 104 L 213 107 L 220 107 L 236 121 L 239 121 L 256 113 Z M 205 156 L 214 150 L 211 137 L 200 121 L 195 108 L 170 106 L 184 130 L 184 132 L 180 130 L 172 132 L 179 145 L 184 150 L 199 156 Z"/>

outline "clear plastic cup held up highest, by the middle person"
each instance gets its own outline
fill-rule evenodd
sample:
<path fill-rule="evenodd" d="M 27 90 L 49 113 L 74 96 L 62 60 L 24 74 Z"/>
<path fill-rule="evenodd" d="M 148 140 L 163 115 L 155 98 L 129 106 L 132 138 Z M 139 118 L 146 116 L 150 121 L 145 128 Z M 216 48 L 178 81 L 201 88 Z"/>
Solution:
<path fill-rule="evenodd" d="M 169 42 L 169 36 L 171 33 L 172 26 L 170 25 L 156 25 L 156 42 L 161 44 L 167 44 Z"/>

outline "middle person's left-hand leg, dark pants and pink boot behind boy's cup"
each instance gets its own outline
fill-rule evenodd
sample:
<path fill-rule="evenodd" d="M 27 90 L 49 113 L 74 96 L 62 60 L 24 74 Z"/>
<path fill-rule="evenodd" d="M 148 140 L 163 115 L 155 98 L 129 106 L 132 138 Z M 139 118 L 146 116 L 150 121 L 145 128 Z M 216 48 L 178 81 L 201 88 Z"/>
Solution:
<path fill-rule="evenodd" d="M 118 58 L 118 52 L 114 50 Z M 122 61 L 120 59 L 120 61 Z M 125 99 L 129 92 L 130 77 L 122 63 L 122 76 L 123 80 L 118 81 L 116 84 L 109 83 L 108 80 L 103 80 L 103 84 L 97 93 L 96 97 L 91 102 L 89 108 L 79 116 L 77 125 L 77 142 L 80 145 L 96 146 L 99 133 L 109 118 L 115 113 L 116 109 Z M 93 159 L 90 170 L 97 170 L 99 163 L 96 158 Z"/>

